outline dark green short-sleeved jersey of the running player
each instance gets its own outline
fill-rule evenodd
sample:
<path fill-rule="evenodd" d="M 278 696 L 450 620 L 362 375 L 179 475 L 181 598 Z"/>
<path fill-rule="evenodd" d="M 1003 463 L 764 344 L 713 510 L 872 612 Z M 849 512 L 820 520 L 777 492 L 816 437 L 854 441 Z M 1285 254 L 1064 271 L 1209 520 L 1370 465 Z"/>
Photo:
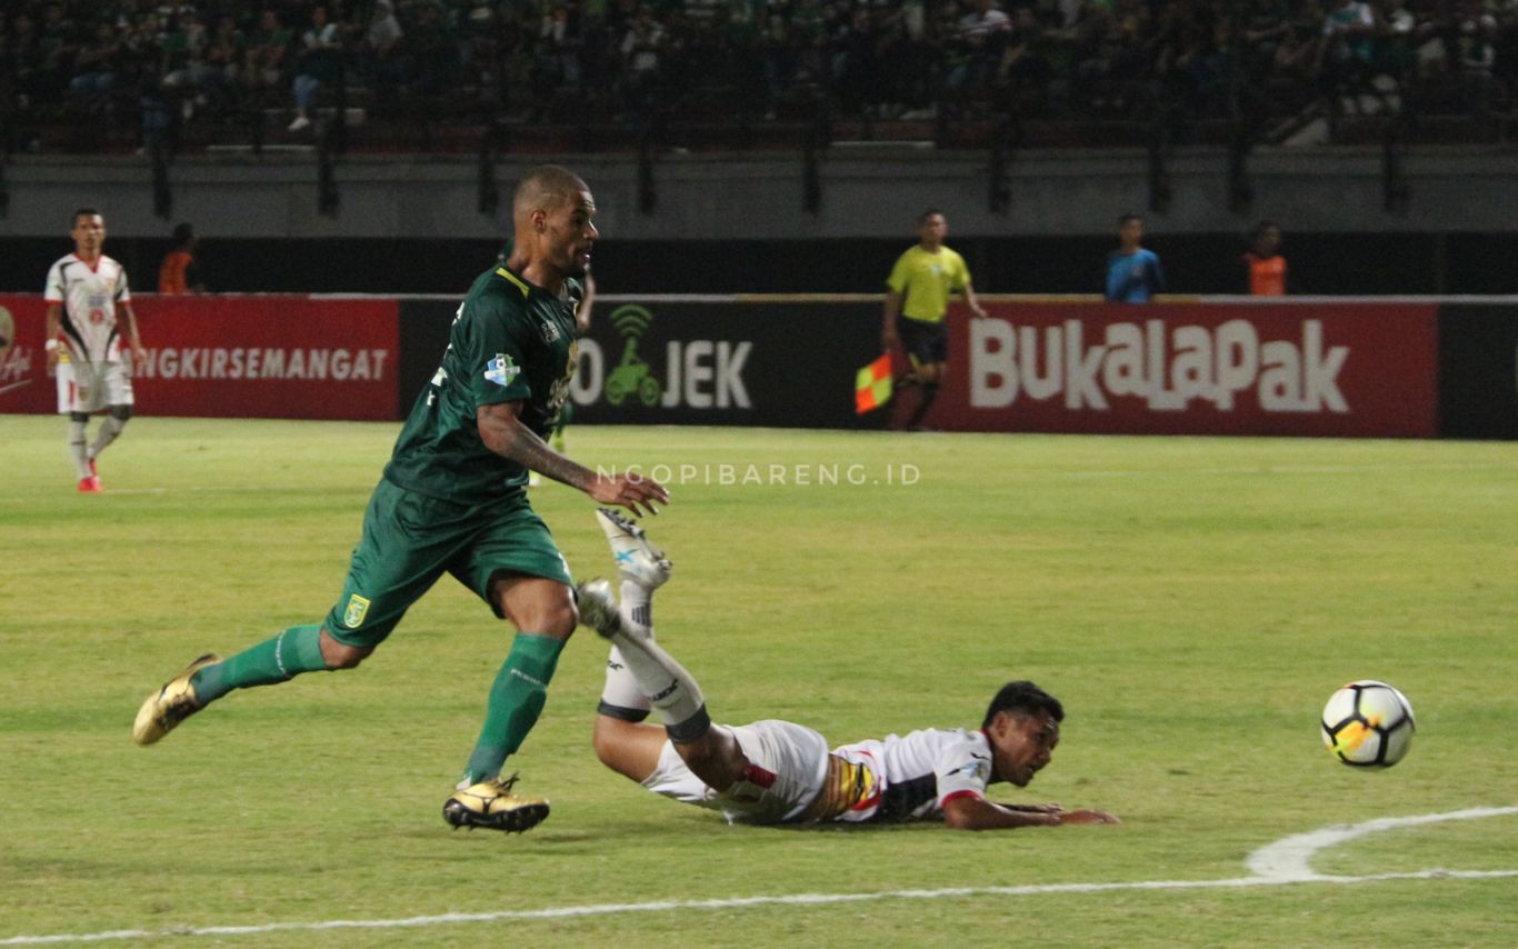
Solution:
<path fill-rule="evenodd" d="M 458 307 L 443 363 L 411 407 L 386 480 L 433 498 L 487 504 L 519 493 L 527 469 L 486 448 L 475 411 L 522 402 L 521 419 L 546 437 L 569 398 L 578 360 L 575 304 L 495 267 L 480 275 Z"/>

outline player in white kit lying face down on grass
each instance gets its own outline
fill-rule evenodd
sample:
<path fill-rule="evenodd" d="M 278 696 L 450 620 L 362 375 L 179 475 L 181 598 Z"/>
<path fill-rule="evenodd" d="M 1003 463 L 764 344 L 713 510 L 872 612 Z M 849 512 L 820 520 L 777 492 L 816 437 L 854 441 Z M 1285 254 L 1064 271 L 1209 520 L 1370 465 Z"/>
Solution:
<path fill-rule="evenodd" d="M 669 560 L 631 521 L 598 515 L 621 577 L 621 609 L 606 580 L 578 588 L 580 621 L 612 641 L 595 753 L 656 794 L 712 808 L 729 821 L 777 824 L 935 820 L 961 831 L 1105 824 L 1105 811 L 1000 805 L 985 788 L 1026 787 L 1060 742 L 1064 708 L 1031 682 L 996 694 L 978 730 L 923 729 L 827 750 L 791 721 L 712 724 L 701 689 L 653 638 L 653 591 Z M 642 724 L 650 708 L 663 727 Z"/>

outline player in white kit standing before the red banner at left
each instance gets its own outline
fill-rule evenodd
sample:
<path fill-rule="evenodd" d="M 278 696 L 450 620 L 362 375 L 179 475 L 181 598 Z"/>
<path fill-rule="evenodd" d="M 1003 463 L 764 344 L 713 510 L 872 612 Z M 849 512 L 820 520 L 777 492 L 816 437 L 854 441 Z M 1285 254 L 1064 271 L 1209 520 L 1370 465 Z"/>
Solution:
<path fill-rule="evenodd" d="M 59 413 L 68 411 L 68 451 L 79 490 L 100 490 L 96 459 L 132 418 L 132 364 L 121 361 L 121 322 L 135 360 L 146 358 L 132 313 L 126 269 L 100 252 L 105 219 L 94 208 L 74 211 L 74 252 L 47 272 L 47 372 L 58 375 Z M 118 322 L 118 316 L 123 317 Z M 61 334 L 61 336 L 59 336 Z M 62 339 L 62 343 L 59 343 Z M 67 352 L 64 369 L 59 357 Z M 90 415 L 106 410 L 94 442 L 87 440 Z"/>

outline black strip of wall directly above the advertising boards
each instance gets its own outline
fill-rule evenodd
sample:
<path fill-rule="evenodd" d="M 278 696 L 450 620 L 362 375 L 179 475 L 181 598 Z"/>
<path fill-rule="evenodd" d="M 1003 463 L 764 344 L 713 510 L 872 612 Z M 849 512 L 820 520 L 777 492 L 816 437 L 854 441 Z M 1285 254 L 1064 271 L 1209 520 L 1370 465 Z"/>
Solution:
<path fill-rule="evenodd" d="M 607 293 L 876 293 L 900 238 L 603 240 L 595 275 Z M 978 290 L 1099 293 L 1113 238 L 964 237 Z M 1243 237 L 1172 234 L 1146 244 L 1175 293 L 1242 292 Z M 58 237 L 0 237 L 0 292 L 39 293 L 47 267 L 71 249 Z M 463 293 L 493 260 L 493 240 L 217 238 L 199 252 L 206 285 L 229 293 Z M 152 292 L 165 238 L 111 237 L 137 292 Z M 1518 234 L 1298 234 L 1284 252 L 1298 292 L 1313 295 L 1518 293 Z"/>

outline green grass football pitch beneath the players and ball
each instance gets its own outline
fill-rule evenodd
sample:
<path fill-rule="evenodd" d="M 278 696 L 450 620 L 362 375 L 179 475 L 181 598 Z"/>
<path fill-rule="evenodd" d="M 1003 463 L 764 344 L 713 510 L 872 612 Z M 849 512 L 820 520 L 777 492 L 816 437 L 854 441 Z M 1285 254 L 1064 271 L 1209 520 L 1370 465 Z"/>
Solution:
<path fill-rule="evenodd" d="M 1064 700 L 1064 741 L 1000 797 L 1119 826 L 727 828 L 595 762 L 604 648 L 581 633 L 510 762 L 553 817 L 449 832 L 510 632 L 446 579 L 361 670 L 238 692 L 132 746 L 141 698 L 191 657 L 323 615 L 395 433 L 140 418 L 102 459 L 109 493 L 79 497 L 62 422 L 0 416 L 0 946 L 208 928 L 232 929 L 178 940 L 1518 943 L 1515 876 L 651 906 L 1225 881 L 1327 824 L 1518 805 L 1518 446 L 571 430 L 581 462 L 668 466 L 657 627 L 713 717 L 841 742 L 978 724 L 1029 677 Z M 587 498 L 533 501 L 577 574 L 610 571 Z M 1334 764 L 1316 735 L 1357 677 L 1418 712 L 1389 771 Z M 1518 870 L 1518 815 L 1362 837 L 1313 867 Z M 638 908 L 480 919 L 613 903 Z M 331 920 L 414 925 L 270 929 Z"/>

